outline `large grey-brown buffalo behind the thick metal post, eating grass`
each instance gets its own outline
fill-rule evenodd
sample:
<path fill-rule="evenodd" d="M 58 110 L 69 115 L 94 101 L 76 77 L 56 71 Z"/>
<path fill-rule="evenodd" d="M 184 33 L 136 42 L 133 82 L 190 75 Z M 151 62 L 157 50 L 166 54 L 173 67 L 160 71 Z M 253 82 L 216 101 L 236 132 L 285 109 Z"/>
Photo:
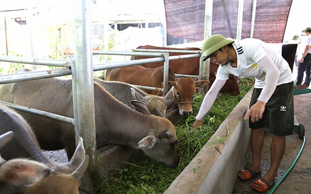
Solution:
<path fill-rule="evenodd" d="M 132 104 L 149 114 L 131 109 L 98 83 L 94 83 L 94 99 L 98 148 L 106 144 L 127 145 L 142 149 L 167 166 L 177 166 L 176 131 L 168 119 L 151 115 L 146 104 L 139 101 L 132 101 Z M 71 79 L 46 78 L 2 84 L 0 100 L 73 118 Z M 26 112 L 20 114 L 30 123 L 42 149 L 65 148 L 71 158 L 75 149 L 72 125 Z"/>

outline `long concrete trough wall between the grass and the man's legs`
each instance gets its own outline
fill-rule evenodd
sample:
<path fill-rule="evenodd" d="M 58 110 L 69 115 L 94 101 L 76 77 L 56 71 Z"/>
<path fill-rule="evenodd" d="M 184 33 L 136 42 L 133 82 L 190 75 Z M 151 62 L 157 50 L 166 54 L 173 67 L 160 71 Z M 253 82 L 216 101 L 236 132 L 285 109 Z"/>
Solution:
<path fill-rule="evenodd" d="M 219 126 L 188 166 L 173 181 L 164 194 L 231 193 L 250 141 L 248 122 L 243 116 L 248 110 L 253 89 Z M 216 135 L 220 138 L 217 140 Z"/>

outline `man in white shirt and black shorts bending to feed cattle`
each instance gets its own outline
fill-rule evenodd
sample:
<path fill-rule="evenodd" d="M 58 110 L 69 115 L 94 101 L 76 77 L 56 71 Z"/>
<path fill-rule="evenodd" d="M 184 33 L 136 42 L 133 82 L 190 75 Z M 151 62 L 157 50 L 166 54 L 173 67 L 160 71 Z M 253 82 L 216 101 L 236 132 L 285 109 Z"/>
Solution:
<path fill-rule="evenodd" d="M 211 109 L 217 94 L 224 86 L 229 74 L 254 77 L 255 84 L 249 110 L 244 119 L 249 118 L 252 129 L 250 143 L 253 163 L 239 171 L 239 177 L 248 180 L 261 174 L 261 152 L 264 143 L 264 127 L 272 133 L 271 166 L 268 172 L 251 184 L 260 192 L 265 192 L 274 184 L 277 170 L 285 151 L 285 135 L 293 133 L 294 126 L 294 81 L 289 64 L 272 45 L 262 40 L 246 38 L 239 42 L 215 34 L 203 41 L 205 61 L 220 64 L 216 79 L 205 94 L 200 110 L 192 127 L 202 125 L 202 119 Z"/>

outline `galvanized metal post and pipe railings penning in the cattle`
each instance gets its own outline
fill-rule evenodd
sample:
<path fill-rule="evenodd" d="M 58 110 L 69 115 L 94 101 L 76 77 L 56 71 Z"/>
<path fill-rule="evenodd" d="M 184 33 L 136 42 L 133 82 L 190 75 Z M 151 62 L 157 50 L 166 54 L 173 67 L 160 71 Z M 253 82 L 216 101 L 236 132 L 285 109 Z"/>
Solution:
<path fill-rule="evenodd" d="M 7 106 L 11 106 L 17 110 L 30 112 L 36 115 L 45 116 L 51 119 L 55 119 L 62 122 L 67 122 L 75 127 L 75 139 L 77 142 L 78 136 L 83 138 L 84 147 L 86 154 L 90 156 L 88 176 L 83 180 L 82 184 L 87 189 L 93 189 L 92 185 L 89 184 L 95 169 L 96 161 L 96 135 L 95 135 L 95 112 L 94 112 L 94 85 L 93 85 L 93 71 L 111 69 L 117 67 L 131 66 L 146 64 L 152 62 L 164 61 L 164 93 L 168 92 L 168 64 L 169 60 L 200 57 L 201 51 L 190 51 L 187 55 L 170 56 L 170 50 L 165 52 L 154 53 L 154 52 L 115 52 L 115 51 L 92 51 L 91 46 L 91 12 L 90 12 L 90 1 L 89 0 L 75 0 L 75 60 L 60 60 L 60 59 L 38 59 L 38 58 L 26 58 L 26 57 L 9 57 L 0 56 L 0 61 L 12 62 L 12 63 L 24 63 L 33 65 L 49 65 L 63 67 L 63 69 L 51 69 L 41 70 L 34 72 L 21 72 L 13 74 L 0 75 L 0 84 L 14 83 L 20 81 L 43 79 L 59 77 L 64 75 L 72 75 L 72 97 L 73 97 L 73 108 L 74 118 L 68 118 L 53 113 L 32 109 L 31 107 L 14 105 L 0 101 L 0 103 Z M 173 50 L 174 52 L 176 50 Z M 149 59 L 138 59 L 132 61 L 124 61 L 109 64 L 95 64 L 93 65 L 92 55 L 93 54 L 109 54 L 109 55 L 137 55 L 137 56 L 151 56 L 155 58 Z M 200 64 L 200 73 L 201 71 Z M 202 75 L 202 74 L 200 74 Z M 192 77 L 192 76 L 190 76 Z M 195 76 L 196 77 L 196 76 Z M 159 89 L 152 87 L 137 86 L 138 88 L 145 89 Z M 85 130 L 87 129 L 87 130 Z"/>

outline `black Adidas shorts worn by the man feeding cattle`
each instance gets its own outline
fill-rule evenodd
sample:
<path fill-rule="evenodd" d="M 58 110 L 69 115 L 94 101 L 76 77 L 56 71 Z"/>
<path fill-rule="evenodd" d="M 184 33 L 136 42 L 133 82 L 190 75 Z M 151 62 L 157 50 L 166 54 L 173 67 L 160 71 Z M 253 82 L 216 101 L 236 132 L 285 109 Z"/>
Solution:
<path fill-rule="evenodd" d="M 262 89 L 254 88 L 251 107 L 259 97 Z M 294 129 L 294 82 L 276 86 L 271 98 L 265 106 L 262 119 L 252 123 L 249 118 L 249 127 L 259 129 L 269 127 L 271 133 L 277 136 L 291 135 Z"/>

